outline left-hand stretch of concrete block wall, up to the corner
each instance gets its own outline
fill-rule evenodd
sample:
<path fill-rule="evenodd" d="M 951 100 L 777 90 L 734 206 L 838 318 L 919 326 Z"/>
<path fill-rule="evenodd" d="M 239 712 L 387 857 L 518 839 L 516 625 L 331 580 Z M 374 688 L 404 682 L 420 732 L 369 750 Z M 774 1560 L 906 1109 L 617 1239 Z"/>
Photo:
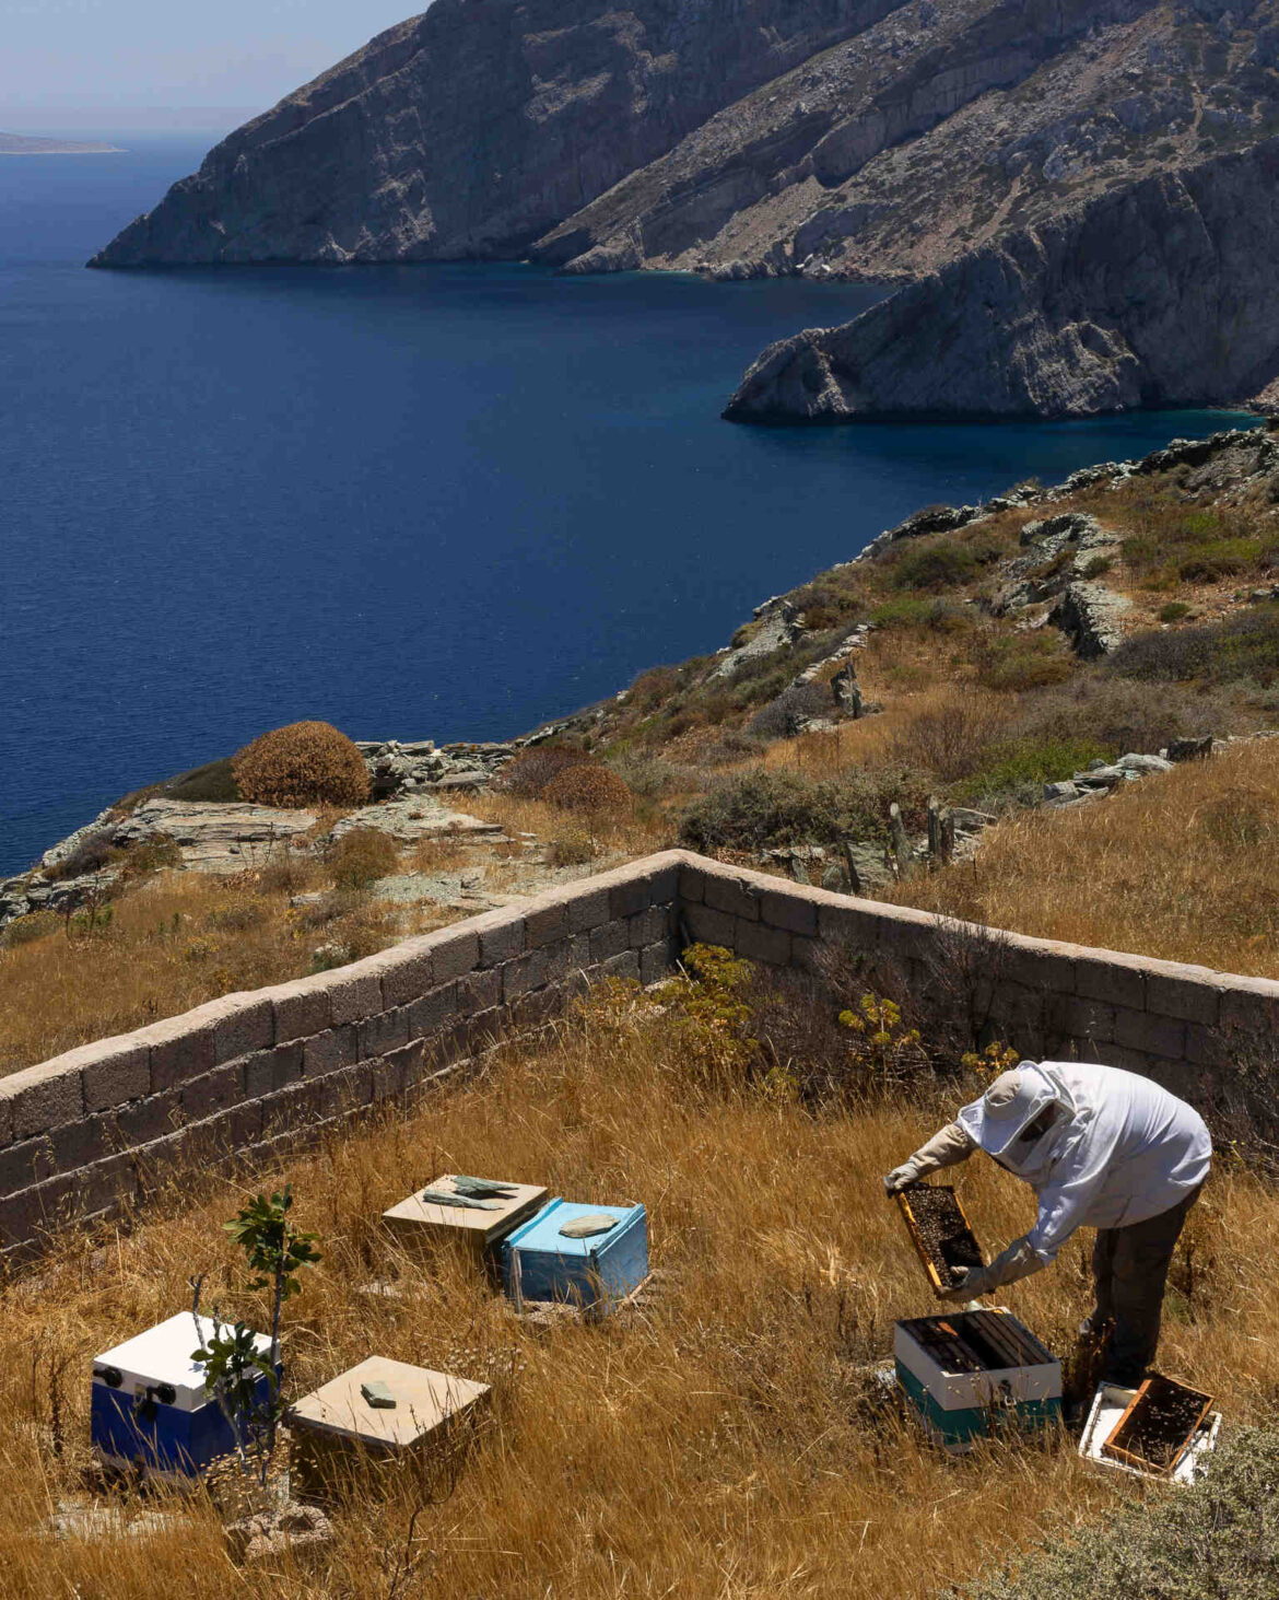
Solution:
<path fill-rule="evenodd" d="M 0 1259 L 174 1168 L 302 1144 L 420 1091 L 598 978 L 655 982 L 679 866 L 651 856 L 0 1078 Z"/>

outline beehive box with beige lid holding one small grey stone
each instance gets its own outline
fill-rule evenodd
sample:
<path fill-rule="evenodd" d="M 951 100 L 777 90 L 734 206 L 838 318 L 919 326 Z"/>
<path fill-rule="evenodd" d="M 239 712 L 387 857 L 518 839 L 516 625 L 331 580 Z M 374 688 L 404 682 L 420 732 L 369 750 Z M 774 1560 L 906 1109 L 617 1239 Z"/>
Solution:
<path fill-rule="evenodd" d="M 368 1386 L 381 1386 L 395 1405 L 371 1405 Z M 294 1486 L 326 1499 L 344 1469 L 422 1459 L 475 1422 L 488 1398 L 488 1384 L 371 1355 L 289 1408 Z"/>

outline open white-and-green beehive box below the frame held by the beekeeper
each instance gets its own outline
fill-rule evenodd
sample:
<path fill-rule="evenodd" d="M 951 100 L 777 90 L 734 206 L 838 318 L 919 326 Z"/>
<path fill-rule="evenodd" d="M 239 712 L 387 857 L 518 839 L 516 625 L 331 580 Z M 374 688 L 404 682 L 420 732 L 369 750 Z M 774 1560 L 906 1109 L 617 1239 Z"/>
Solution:
<path fill-rule="evenodd" d="M 1004 1307 L 898 1322 L 894 1365 L 906 1398 L 950 1450 L 1062 1414 L 1062 1363 Z"/>

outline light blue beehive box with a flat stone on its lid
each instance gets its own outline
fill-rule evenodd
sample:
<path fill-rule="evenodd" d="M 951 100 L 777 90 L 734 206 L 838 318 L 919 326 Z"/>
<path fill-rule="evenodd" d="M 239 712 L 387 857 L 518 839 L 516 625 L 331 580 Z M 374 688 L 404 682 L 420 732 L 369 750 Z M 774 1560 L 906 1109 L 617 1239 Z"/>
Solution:
<path fill-rule="evenodd" d="M 588 1237 L 563 1232 L 588 1219 L 612 1226 Z M 577 1205 L 552 1200 L 502 1242 L 502 1275 L 512 1299 L 568 1301 L 604 1309 L 649 1275 L 649 1219 L 641 1205 Z"/>

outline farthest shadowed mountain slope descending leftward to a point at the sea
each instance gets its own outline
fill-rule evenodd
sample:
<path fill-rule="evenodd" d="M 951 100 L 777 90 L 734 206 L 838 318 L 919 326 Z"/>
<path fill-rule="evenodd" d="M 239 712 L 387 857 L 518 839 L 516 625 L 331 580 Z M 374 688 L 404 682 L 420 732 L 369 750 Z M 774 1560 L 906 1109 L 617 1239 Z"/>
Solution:
<path fill-rule="evenodd" d="M 237 130 L 94 266 L 518 256 L 891 0 L 435 0 Z"/>

